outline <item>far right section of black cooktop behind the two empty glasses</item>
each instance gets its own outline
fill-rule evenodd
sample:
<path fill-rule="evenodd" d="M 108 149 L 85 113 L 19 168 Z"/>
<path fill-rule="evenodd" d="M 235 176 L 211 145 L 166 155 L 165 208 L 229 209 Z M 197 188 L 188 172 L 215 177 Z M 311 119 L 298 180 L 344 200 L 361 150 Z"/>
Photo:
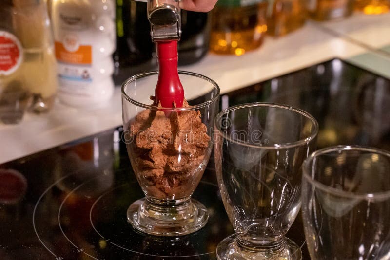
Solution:
<path fill-rule="evenodd" d="M 318 148 L 363 145 L 390 150 L 390 80 L 333 59 L 221 96 L 223 106 L 273 102 L 308 111 Z"/>

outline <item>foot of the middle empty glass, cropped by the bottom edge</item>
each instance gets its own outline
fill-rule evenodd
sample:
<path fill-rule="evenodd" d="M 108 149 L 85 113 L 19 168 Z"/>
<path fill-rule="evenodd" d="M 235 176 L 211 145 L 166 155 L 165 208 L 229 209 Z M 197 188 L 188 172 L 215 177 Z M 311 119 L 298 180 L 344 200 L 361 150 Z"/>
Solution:
<path fill-rule="evenodd" d="M 218 244 L 216 257 L 218 260 L 302 260 L 302 251 L 296 243 L 286 237 L 281 249 L 276 251 L 242 248 L 233 234 Z"/>

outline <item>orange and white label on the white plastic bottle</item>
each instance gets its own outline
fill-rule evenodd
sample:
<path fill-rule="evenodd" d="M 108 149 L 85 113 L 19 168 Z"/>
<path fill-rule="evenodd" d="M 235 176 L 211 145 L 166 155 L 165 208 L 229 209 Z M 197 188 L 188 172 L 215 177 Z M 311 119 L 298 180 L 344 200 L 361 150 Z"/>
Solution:
<path fill-rule="evenodd" d="M 92 46 L 80 45 L 79 42 L 78 37 L 72 34 L 63 37 L 62 42 L 55 41 L 60 91 L 74 92 L 76 89 L 76 93 L 89 91 L 88 83 L 92 82 Z"/>

